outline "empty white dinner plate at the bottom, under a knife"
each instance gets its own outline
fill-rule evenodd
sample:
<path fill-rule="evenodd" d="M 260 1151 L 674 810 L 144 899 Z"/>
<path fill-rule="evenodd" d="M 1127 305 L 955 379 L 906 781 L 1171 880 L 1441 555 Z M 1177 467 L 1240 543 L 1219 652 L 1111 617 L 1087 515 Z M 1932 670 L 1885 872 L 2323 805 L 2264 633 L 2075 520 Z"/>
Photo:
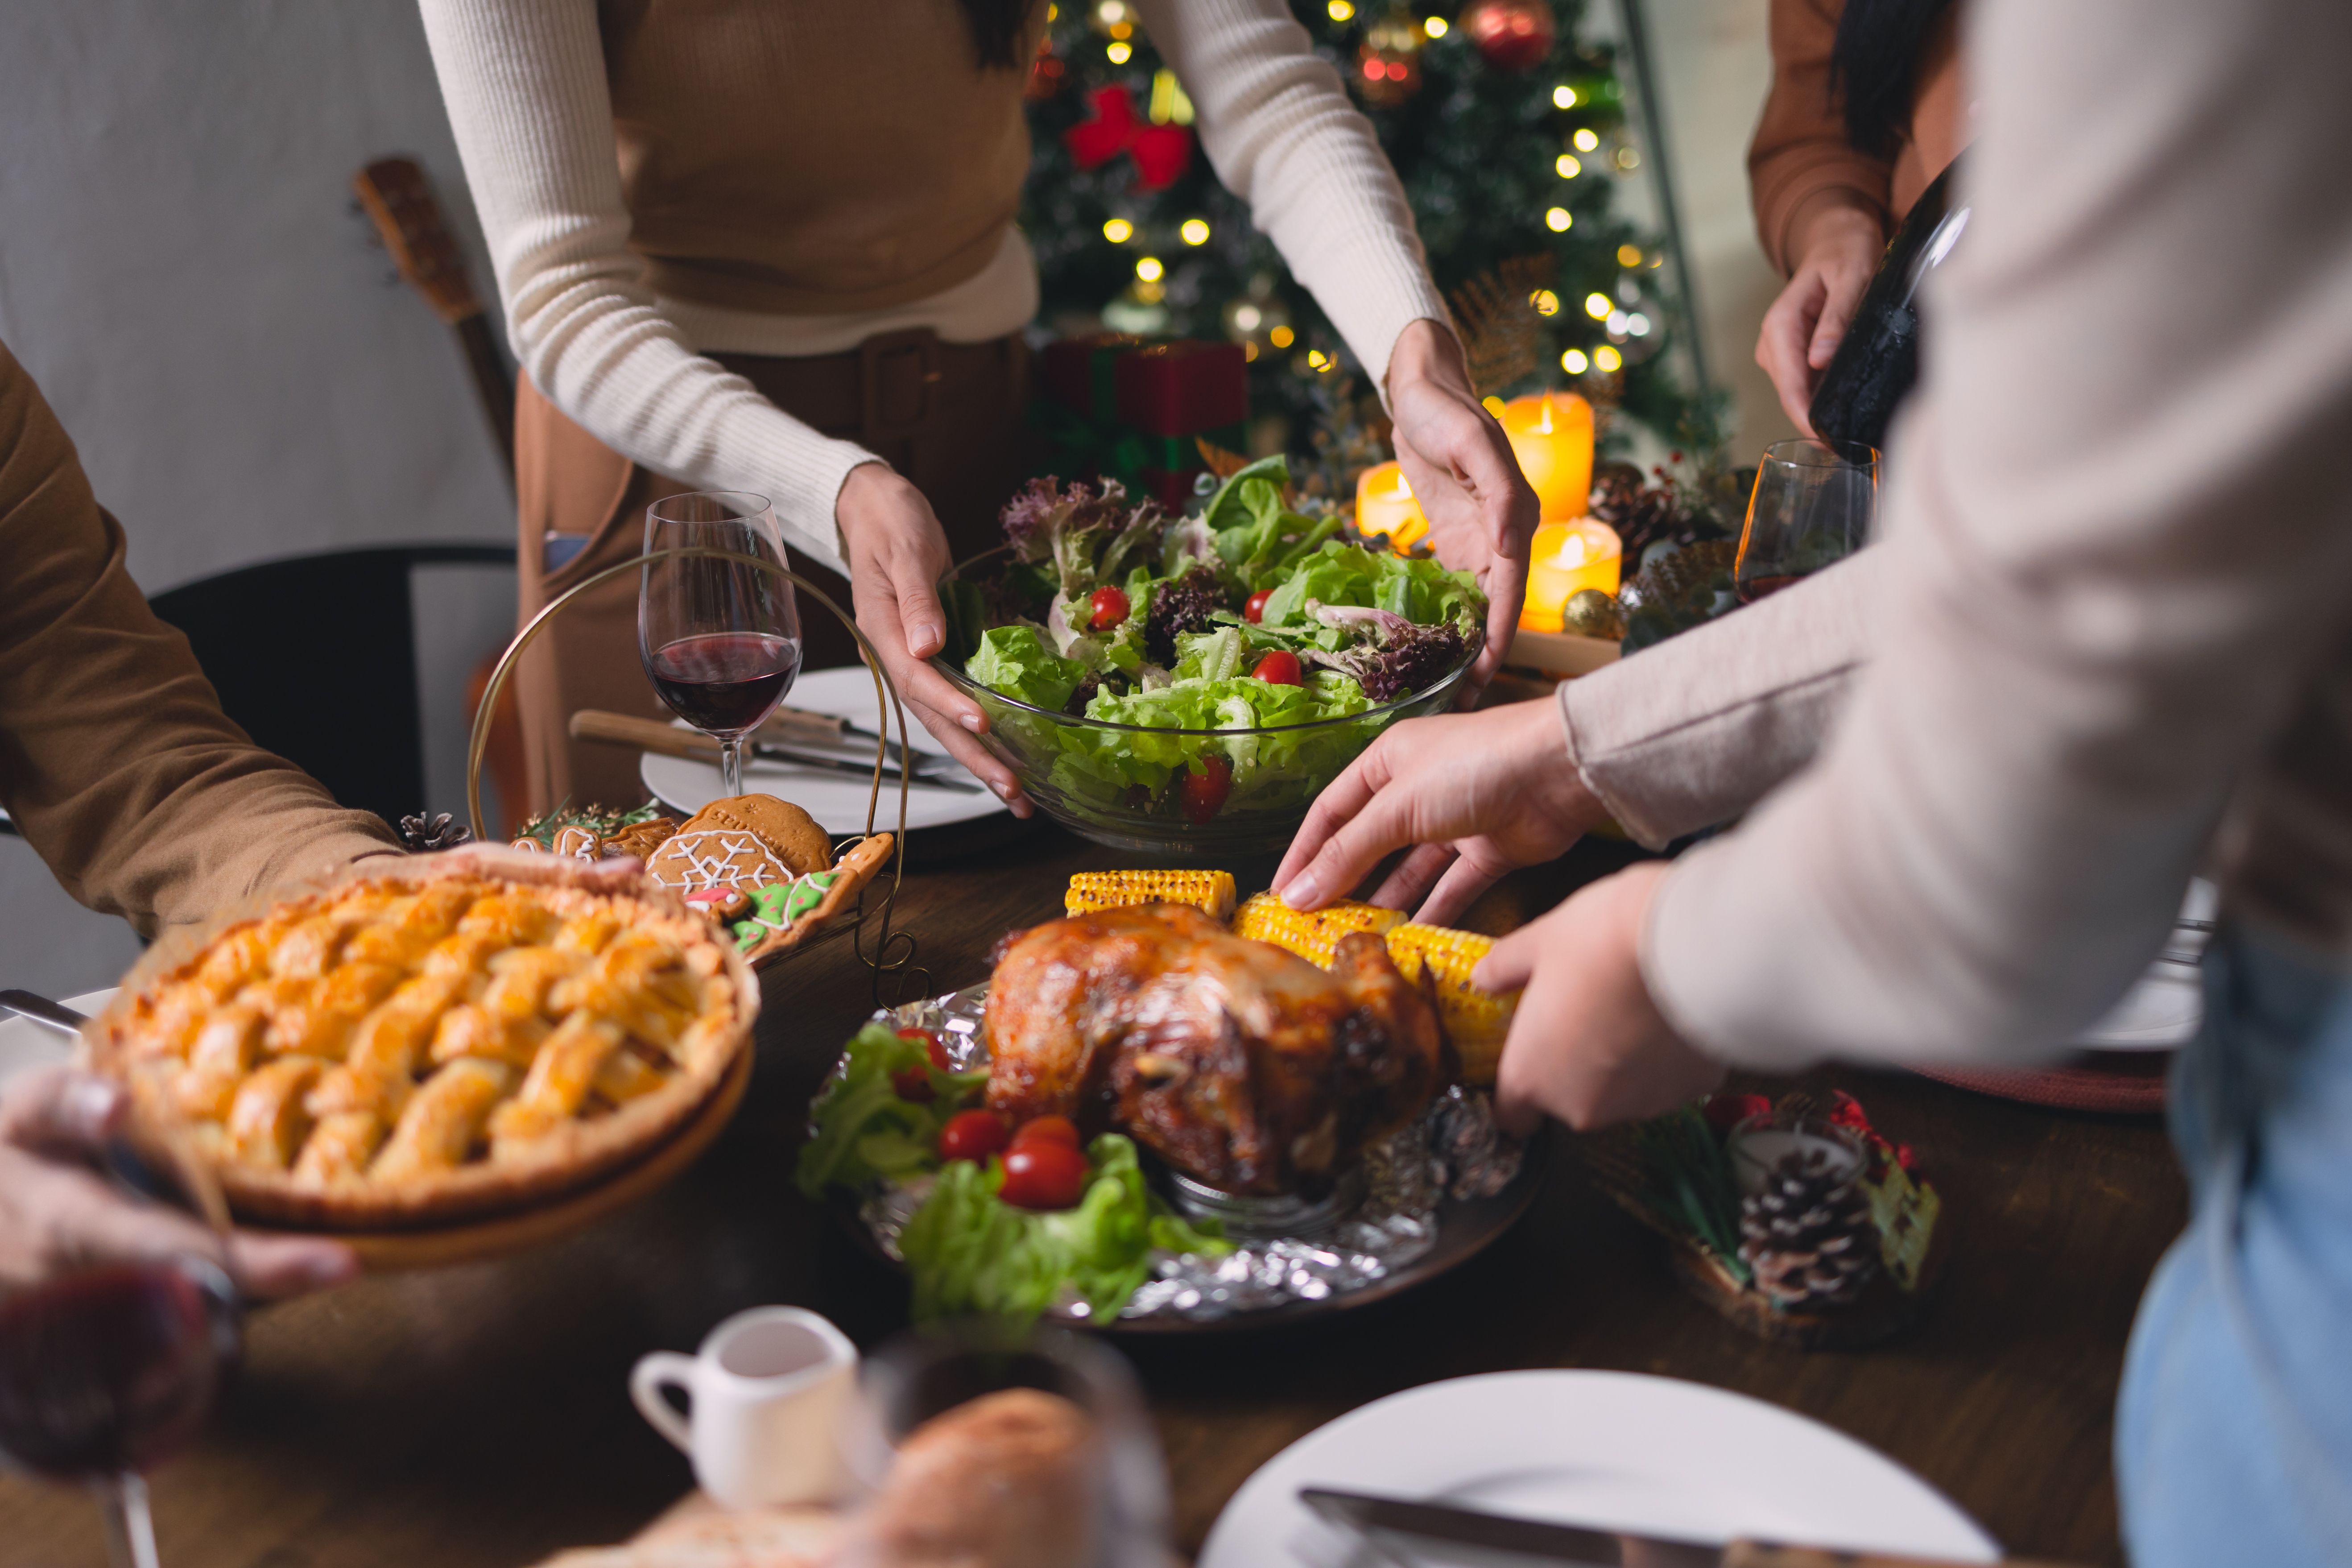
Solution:
<path fill-rule="evenodd" d="M 1200 1554 L 1200 1568 L 1496 1561 L 1437 1544 L 1374 1556 L 1310 1514 L 1301 1486 L 1698 1542 L 1999 1559 L 1947 1497 L 1851 1436 L 1762 1399 L 1642 1373 L 1486 1373 L 1390 1394 L 1268 1460 Z"/>

